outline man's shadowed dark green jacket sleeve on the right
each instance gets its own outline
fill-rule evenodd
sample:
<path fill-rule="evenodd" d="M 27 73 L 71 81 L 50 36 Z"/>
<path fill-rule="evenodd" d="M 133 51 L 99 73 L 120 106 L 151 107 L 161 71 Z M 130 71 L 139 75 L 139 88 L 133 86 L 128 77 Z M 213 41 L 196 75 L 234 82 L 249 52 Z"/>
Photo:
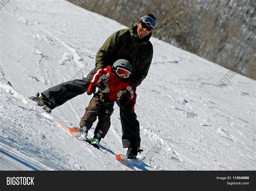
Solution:
<path fill-rule="evenodd" d="M 151 61 L 153 58 L 153 46 L 150 44 L 150 48 L 147 52 L 144 53 L 142 58 L 142 62 L 138 63 L 138 68 L 133 72 L 131 81 L 133 82 L 133 86 L 137 87 L 142 83 L 142 81 L 147 76 L 149 72 L 149 68 L 151 65 Z"/>

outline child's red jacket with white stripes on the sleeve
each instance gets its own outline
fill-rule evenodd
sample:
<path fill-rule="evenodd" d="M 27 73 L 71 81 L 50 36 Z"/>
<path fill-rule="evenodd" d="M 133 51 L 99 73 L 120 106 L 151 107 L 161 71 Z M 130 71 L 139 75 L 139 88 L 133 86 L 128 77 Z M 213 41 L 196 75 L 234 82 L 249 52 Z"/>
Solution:
<path fill-rule="evenodd" d="M 114 72 L 111 71 L 111 66 L 107 66 L 106 68 L 98 69 L 95 74 L 93 74 L 90 86 L 88 90 L 91 88 L 91 86 L 99 86 L 100 83 L 103 81 L 106 81 L 103 79 L 106 74 L 109 73 L 109 77 L 107 80 L 107 86 L 109 86 L 110 91 L 107 93 L 107 96 L 114 101 L 117 101 L 117 93 L 119 90 L 126 90 L 128 86 L 130 86 L 129 81 L 125 81 L 124 79 L 121 79 L 118 77 Z M 104 75 L 105 74 L 105 75 Z M 130 91 L 127 91 L 127 97 L 129 98 L 129 101 L 135 102 L 136 101 L 136 87 L 131 86 L 132 88 L 132 94 Z"/>

